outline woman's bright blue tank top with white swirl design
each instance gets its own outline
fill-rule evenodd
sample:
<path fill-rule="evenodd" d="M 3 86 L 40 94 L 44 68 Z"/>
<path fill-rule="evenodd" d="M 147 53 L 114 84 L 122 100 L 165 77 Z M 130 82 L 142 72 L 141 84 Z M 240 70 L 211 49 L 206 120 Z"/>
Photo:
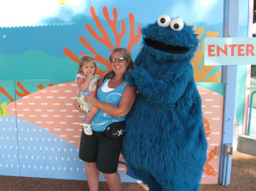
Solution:
<path fill-rule="evenodd" d="M 104 83 L 101 84 L 100 88 L 97 91 L 97 99 L 99 101 L 104 101 L 106 103 L 118 106 L 119 102 L 122 98 L 123 91 L 125 90 L 127 82 L 123 82 L 117 88 L 114 88 L 112 91 L 103 92 L 102 87 L 105 83 L 108 83 L 109 79 L 105 79 Z M 94 131 L 104 131 L 109 124 L 112 124 L 116 121 L 124 121 L 125 116 L 123 117 L 113 117 L 110 114 L 103 112 L 101 109 L 98 113 L 93 117 L 91 121 L 92 130 Z"/>

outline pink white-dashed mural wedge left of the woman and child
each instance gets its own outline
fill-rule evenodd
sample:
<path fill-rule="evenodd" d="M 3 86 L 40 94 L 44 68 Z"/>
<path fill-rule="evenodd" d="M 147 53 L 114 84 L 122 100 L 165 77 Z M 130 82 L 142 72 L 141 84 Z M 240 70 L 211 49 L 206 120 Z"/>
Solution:
<path fill-rule="evenodd" d="M 7 105 L 7 109 L 11 115 L 16 114 L 79 147 L 79 124 L 84 114 L 73 107 L 76 94 L 76 82 L 58 84 L 26 95 Z"/>

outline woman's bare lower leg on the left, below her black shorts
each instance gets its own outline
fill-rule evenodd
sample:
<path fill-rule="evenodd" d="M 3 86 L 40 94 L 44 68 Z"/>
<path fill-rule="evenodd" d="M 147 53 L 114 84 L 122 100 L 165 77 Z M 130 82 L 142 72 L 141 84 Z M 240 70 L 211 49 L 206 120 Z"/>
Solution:
<path fill-rule="evenodd" d="M 85 171 L 90 191 L 98 191 L 100 172 L 96 163 L 85 163 Z"/>

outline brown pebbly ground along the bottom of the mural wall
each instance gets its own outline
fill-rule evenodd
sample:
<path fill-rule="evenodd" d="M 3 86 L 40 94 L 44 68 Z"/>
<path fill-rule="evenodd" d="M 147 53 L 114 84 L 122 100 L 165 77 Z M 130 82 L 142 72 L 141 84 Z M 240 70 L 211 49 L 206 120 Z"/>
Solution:
<path fill-rule="evenodd" d="M 234 152 L 231 179 L 227 186 L 201 185 L 200 191 L 256 190 L 256 156 Z M 82 180 L 39 179 L 32 177 L 0 176 L 1 191 L 88 191 L 88 182 Z M 122 191 L 146 191 L 140 183 L 122 182 Z M 100 182 L 98 191 L 109 191 L 106 182 Z M 160 191 L 160 190 L 159 190 Z"/>

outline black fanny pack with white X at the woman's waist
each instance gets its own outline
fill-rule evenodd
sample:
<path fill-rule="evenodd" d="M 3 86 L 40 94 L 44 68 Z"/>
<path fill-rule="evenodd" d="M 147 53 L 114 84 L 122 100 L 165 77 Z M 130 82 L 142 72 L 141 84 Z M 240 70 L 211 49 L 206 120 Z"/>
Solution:
<path fill-rule="evenodd" d="M 118 139 L 125 134 L 125 121 L 113 122 L 109 124 L 104 130 L 106 137 L 110 139 Z"/>

